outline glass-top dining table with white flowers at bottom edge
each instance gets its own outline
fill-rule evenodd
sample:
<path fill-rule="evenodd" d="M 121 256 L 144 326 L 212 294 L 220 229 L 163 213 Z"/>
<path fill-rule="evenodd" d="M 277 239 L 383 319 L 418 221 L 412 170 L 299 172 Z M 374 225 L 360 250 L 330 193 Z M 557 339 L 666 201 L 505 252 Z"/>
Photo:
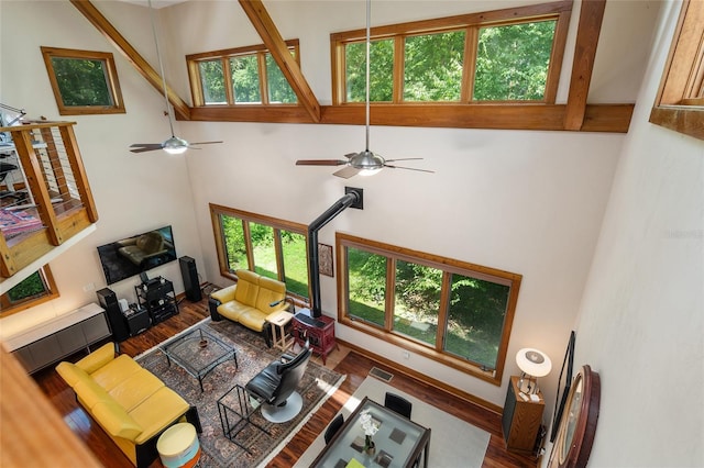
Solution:
<path fill-rule="evenodd" d="M 360 413 L 364 410 L 369 410 L 380 423 L 378 432 L 372 437 L 376 446 L 373 455 L 363 450 L 364 431 Z M 424 466 L 428 468 L 429 447 L 429 428 L 365 397 L 310 466 L 345 468 L 354 459 L 365 467 L 413 467 L 422 454 Z"/>

